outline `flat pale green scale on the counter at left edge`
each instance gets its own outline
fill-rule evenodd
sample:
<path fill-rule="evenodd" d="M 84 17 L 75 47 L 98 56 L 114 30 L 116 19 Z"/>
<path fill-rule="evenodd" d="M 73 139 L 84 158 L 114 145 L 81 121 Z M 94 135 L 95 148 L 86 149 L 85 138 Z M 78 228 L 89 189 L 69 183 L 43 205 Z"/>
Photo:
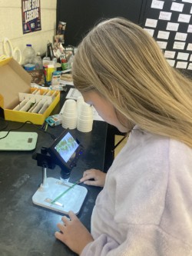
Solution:
<path fill-rule="evenodd" d="M 0 151 L 30 151 L 35 149 L 37 140 L 36 132 L 0 131 Z"/>

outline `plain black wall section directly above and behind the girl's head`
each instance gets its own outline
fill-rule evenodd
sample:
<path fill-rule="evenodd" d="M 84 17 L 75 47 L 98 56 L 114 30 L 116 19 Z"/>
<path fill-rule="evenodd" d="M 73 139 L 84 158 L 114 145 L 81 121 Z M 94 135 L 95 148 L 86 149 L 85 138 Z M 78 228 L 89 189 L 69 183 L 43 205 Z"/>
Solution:
<path fill-rule="evenodd" d="M 66 22 L 65 45 L 77 46 L 101 18 L 121 16 L 140 23 L 147 0 L 58 0 L 57 22 Z"/>

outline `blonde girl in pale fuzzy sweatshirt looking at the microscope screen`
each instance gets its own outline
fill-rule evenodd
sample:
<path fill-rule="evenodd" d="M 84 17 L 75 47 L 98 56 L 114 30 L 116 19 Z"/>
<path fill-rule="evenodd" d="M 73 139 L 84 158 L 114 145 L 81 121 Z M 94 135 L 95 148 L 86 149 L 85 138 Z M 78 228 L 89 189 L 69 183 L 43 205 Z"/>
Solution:
<path fill-rule="evenodd" d="M 91 234 L 70 212 L 56 238 L 88 256 L 192 255 L 191 81 L 170 67 L 151 35 L 124 18 L 88 33 L 72 73 L 84 100 L 130 136 L 106 177 L 91 169 L 81 178 L 104 186 Z"/>

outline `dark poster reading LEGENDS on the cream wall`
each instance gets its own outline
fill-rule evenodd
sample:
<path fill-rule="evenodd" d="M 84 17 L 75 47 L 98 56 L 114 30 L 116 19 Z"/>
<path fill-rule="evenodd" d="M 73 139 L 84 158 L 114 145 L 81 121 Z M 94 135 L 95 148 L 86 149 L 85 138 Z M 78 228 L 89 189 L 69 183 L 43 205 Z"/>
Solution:
<path fill-rule="evenodd" d="M 22 0 L 23 34 L 41 30 L 40 0 Z"/>

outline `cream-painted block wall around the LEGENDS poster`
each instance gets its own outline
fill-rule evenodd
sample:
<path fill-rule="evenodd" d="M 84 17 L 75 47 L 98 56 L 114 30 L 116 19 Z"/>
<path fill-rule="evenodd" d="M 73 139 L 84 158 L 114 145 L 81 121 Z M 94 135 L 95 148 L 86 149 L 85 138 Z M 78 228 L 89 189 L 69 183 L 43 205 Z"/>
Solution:
<path fill-rule="evenodd" d="M 13 48 L 23 52 L 25 45 L 31 43 L 35 52 L 45 53 L 47 42 L 53 42 L 56 32 L 57 0 L 41 0 L 41 31 L 23 34 L 22 0 L 0 0 L 0 55 L 5 54 L 3 40 L 8 38 Z"/>

